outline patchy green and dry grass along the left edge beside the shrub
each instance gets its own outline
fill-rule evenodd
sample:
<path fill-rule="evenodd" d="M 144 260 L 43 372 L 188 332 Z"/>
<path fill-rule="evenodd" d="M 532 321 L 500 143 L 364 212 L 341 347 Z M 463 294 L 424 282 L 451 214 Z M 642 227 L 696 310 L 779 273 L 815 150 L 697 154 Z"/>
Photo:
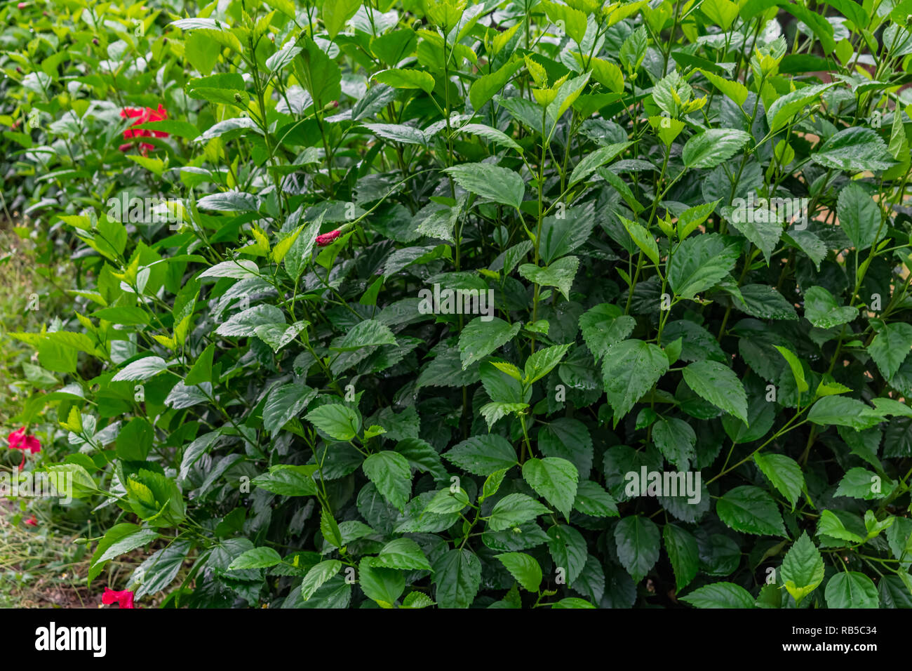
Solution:
<path fill-rule="evenodd" d="M 67 299 L 59 287 L 67 284 L 70 268 L 43 266 L 30 234 L 0 218 L 0 471 L 6 472 L 15 471 L 21 459 L 20 452 L 6 448 L 6 435 L 19 427 L 13 419 L 31 394 L 62 384 L 58 375 L 41 370 L 26 343 L 9 337 L 11 332 L 41 330 Z M 58 433 L 56 418 L 42 422 L 47 424 L 31 430 Z M 0 498 L 0 607 L 98 603 L 98 594 L 90 596 L 86 586 L 89 546 L 73 542 L 91 533 L 85 522 L 89 512 L 85 504 L 59 508 L 43 498 Z M 33 516 L 35 526 L 27 525 Z M 96 529 L 94 535 L 98 533 Z M 111 570 L 123 568 L 115 564 Z M 99 576 L 93 592 L 104 582 L 105 576 Z"/>

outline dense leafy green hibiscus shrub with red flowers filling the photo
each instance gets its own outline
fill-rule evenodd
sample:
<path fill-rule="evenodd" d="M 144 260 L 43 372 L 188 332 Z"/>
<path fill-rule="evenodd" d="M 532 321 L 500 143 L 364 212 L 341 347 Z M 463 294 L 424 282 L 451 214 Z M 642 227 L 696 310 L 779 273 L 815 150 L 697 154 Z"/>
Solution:
<path fill-rule="evenodd" d="M 78 267 L 11 428 L 89 581 L 912 605 L 909 11 L 5 5 L 5 202 Z"/>

